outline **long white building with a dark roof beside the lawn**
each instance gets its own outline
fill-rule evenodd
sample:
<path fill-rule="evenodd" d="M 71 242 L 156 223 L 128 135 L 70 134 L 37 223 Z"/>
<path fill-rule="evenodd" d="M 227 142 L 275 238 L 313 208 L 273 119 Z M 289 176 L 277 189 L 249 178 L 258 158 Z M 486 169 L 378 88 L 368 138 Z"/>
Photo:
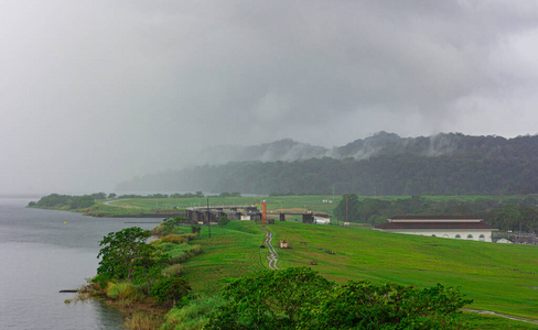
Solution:
<path fill-rule="evenodd" d="M 474 217 L 459 216 L 398 216 L 374 229 L 416 235 L 438 237 L 492 242 L 492 233 L 497 231 Z"/>

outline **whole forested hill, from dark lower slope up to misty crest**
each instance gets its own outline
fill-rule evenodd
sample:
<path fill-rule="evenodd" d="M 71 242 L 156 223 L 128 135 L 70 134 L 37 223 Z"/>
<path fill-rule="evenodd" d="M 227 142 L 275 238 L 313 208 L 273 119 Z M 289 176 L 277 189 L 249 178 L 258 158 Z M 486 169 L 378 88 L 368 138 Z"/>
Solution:
<path fill-rule="evenodd" d="M 381 132 L 325 150 L 318 157 L 204 165 L 134 178 L 117 188 L 332 194 L 333 187 L 335 194 L 357 195 L 535 194 L 538 136 L 450 133 L 404 139 Z"/>

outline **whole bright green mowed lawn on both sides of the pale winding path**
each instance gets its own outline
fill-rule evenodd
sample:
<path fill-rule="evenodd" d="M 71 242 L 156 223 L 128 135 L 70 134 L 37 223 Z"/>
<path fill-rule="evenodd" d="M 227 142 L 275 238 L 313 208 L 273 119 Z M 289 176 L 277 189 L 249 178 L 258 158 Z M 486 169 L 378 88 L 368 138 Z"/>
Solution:
<path fill-rule="evenodd" d="M 232 278 L 267 267 L 263 232 L 251 221 L 205 227 L 204 253 L 184 264 L 195 292 L 215 292 Z M 329 279 L 461 287 L 469 308 L 538 320 L 538 246 L 391 234 L 367 229 L 279 222 L 267 226 L 292 249 L 277 249 L 278 267 L 310 266 Z M 329 251 L 334 254 L 327 253 Z M 318 265 L 311 266 L 310 262 Z"/>

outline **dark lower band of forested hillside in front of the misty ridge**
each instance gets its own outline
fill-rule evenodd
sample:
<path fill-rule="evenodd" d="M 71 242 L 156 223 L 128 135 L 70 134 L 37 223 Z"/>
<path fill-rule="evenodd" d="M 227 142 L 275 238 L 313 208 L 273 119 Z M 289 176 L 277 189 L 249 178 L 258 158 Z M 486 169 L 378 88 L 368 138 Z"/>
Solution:
<path fill-rule="evenodd" d="M 524 195 L 538 191 L 538 160 L 392 155 L 365 161 L 325 157 L 244 162 L 183 169 L 170 179 L 148 176 L 121 186 L 122 189 L 150 187 L 244 194 L 329 195 L 334 187 L 336 194 L 353 191 L 365 196 Z"/>

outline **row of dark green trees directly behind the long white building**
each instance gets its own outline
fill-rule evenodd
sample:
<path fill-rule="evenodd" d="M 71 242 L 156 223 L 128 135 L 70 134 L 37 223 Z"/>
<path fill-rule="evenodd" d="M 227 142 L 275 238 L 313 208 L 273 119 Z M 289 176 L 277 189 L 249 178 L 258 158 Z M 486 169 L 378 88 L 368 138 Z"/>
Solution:
<path fill-rule="evenodd" d="M 474 200 L 432 200 L 413 196 L 396 200 L 376 198 L 359 199 L 357 195 L 344 195 L 334 215 L 340 221 L 370 223 L 387 221 L 395 216 L 473 216 L 503 231 L 538 232 L 537 200 L 477 198 Z"/>

